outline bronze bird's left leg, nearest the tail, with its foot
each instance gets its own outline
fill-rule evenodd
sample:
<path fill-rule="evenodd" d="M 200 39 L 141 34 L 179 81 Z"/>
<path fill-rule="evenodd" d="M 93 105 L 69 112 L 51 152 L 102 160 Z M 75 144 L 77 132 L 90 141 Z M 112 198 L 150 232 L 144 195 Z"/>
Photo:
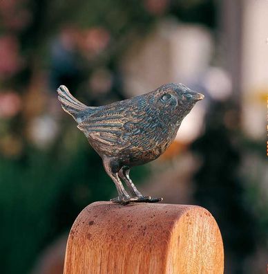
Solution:
<path fill-rule="evenodd" d="M 115 203 L 129 203 L 131 201 L 131 197 L 128 195 L 128 192 L 124 189 L 122 182 L 119 179 L 118 172 L 112 172 L 111 162 L 108 159 L 104 160 L 104 169 L 108 176 L 111 177 L 113 182 L 115 183 L 115 187 L 118 192 L 118 197 L 111 199 Z"/>

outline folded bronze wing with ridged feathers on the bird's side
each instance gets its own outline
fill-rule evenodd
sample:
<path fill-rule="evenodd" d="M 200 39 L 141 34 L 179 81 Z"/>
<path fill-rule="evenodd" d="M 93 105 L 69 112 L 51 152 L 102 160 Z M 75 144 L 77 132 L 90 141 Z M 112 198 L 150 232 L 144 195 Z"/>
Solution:
<path fill-rule="evenodd" d="M 100 107 L 77 127 L 103 149 L 152 149 L 163 140 L 166 125 L 148 100 L 139 96 Z"/>

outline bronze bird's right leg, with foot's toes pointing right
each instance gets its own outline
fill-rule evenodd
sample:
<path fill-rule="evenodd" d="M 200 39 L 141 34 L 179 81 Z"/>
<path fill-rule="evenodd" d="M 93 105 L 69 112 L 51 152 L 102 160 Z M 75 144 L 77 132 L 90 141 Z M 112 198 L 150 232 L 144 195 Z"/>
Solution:
<path fill-rule="evenodd" d="M 122 167 L 121 170 L 119 170 L 119 176 L 124 180 L 126 185 L 128 186 L 128 189 L 131 192 L 131 201 L 134 202 L 148 202 L 148 203 L 155 203 L 158 201 L 162 201 L 162 198 L 151 198 L 150 196 L 143 196 L 142 193 L 140 193 L 139 190 L 135 187 L 133 181 L 129 177 L 130 169 L 129 167 Z"/>

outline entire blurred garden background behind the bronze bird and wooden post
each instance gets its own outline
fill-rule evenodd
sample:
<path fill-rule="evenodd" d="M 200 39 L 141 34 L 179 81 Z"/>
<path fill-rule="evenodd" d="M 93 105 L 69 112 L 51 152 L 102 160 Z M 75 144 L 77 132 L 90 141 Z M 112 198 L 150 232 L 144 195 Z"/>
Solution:
<path fill-rule="evenodd" d="M 57 87 L 97 106 L 167 82 L 205 99 L 135 183 L 207 208 L 225 273 L 266 273 L 267 25 L 265 0 L 1 0 L 1 273 L 62 273 L 77 214 L 116 195 Z"/>

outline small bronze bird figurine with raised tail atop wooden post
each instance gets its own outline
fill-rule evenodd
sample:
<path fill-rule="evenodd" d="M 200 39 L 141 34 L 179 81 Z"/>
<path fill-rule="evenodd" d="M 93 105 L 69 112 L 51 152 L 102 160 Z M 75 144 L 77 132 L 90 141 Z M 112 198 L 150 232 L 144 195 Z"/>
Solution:
<path fill-rule="evenodd" d="M 133 98 L 88 107 L 64 85 L 59 86 L 57 93 L 61 107 L 73 116 L 115 183 L 118 197 L 110 201 L 162 201 L 137 190 L 129 175 L 131 167 L 149 163 L 163 154 L 175 139 L 184 117 L 204 95 L 184 84 L 169 83 Z"/>

